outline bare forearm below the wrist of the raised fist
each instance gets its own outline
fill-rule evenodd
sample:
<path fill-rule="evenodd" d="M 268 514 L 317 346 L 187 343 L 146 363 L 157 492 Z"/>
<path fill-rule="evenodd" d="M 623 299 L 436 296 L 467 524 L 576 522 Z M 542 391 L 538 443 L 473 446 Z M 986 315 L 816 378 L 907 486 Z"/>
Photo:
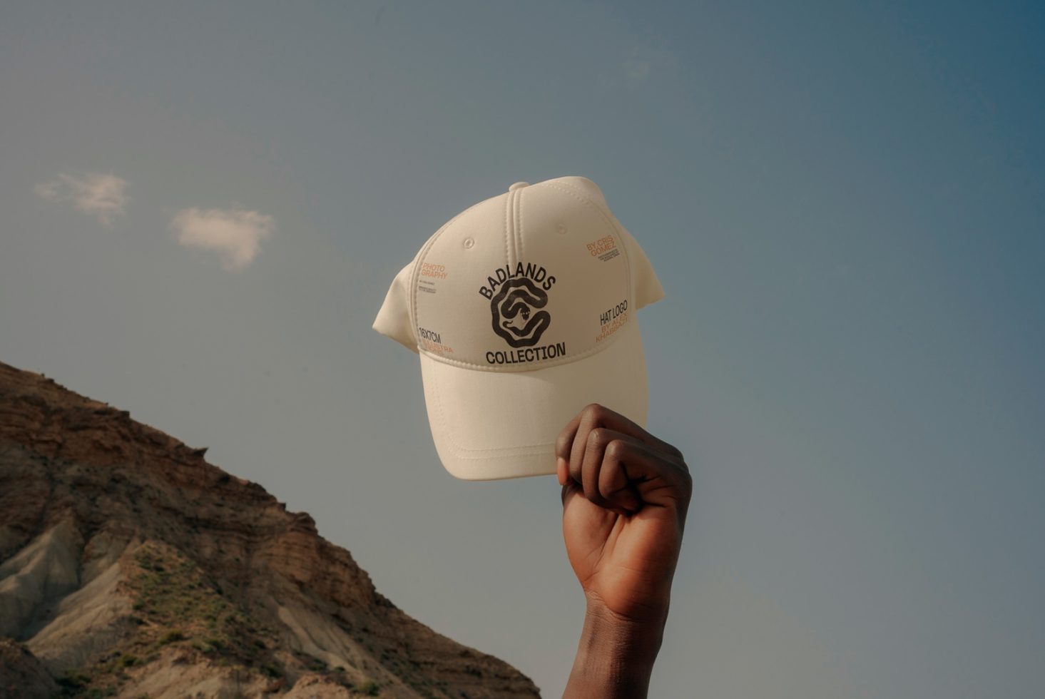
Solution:
<path fill-rule="evenodd" d="M 588 603 L 563 699 L 645 698 L 666 621 L 667 610 L 659 622 L 630 622 Z"/>

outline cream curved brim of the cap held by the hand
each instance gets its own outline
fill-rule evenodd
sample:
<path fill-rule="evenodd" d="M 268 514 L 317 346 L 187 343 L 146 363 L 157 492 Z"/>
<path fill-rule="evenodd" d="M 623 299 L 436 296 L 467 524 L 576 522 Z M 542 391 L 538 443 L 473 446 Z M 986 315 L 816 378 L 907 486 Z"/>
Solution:
<path fill-rule="evenodd" d="M 590 356 L 536 371 L 475 371 L 421 352 L 439 458 L 466 481 L 555 473 L 555 441 L 588 403 L 645 427 L 646 359 L 637 319 Z"/>

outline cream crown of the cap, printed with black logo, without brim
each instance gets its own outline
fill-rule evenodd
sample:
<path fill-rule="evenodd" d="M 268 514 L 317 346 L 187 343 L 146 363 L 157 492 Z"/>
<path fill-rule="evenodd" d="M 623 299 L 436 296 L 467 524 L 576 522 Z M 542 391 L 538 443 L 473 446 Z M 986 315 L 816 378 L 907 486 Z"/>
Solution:
<path fill-rule="evenodd" d="M 600 351 L 663 296 L 595 183 L 565 177 L 516 183 L 447 222 L 374 327 L 439 362 L 532 371 Z"/>

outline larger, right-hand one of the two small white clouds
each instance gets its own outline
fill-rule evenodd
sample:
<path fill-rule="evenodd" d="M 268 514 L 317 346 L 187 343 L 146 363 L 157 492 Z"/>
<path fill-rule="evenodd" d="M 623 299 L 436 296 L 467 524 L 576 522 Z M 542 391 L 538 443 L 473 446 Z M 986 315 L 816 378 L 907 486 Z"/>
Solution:
<path fill-rule="evenodd" d="M 242 209 L 182 209 L 170 222 L 178 242 L 211 250 L 230 272 L 245 269 L 260 252 L 260 242 L 275 230 L 272 216 Z"/>

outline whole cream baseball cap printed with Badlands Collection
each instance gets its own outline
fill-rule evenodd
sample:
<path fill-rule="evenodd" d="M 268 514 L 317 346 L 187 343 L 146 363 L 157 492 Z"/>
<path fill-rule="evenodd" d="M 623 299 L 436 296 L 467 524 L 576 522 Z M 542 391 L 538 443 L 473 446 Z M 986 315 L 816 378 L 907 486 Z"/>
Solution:
<path fill-rule="evenodd" d="M 417 352 L 433 441 L 469 481 L 556 472 L 588 403 L 645 426 L 635 311 L 664 298 L 646 254 L 583 177 L 516 182 L 446 222 L 373 327 Z"/>

